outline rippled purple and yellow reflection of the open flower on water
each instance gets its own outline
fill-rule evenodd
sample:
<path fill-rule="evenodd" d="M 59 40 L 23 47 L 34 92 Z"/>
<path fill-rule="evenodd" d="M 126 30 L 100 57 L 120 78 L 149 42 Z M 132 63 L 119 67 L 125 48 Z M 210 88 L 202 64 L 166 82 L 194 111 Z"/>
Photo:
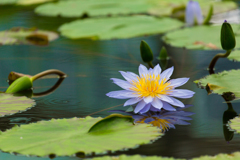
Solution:
<path fill-rule="evenodd" d="M 153 126 L 159 127 L 162 132 L 168 131 L 170 128 L 175 129 L 175 125 L 190 125 L 189 120 L 192 118 L 188 117 L 193 115 L 193 112 L 186 112 L 183 109 L 190 107 L 186 105 L 184 108 L 176 108 L 176 111 L 167 111 L 162 109 L 161 111 L 154 112 L 148 111 L 143 114 L 135 114 L 134 112 L 125 112 L 123 110 L 114 110 L 111 112 L 121 112 L 131 115 L 135 123 L 148 123 Z"/>

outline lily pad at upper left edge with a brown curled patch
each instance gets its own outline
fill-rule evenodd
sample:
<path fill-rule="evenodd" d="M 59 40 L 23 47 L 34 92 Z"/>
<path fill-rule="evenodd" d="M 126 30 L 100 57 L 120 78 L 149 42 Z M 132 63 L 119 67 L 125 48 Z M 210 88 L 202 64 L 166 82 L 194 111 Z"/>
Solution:
<path fill-rule="evenodd" d="M 36 28 L 15 27 L 0 31 L 0 45 L 34 44 L 47 45 L 58 38 L 58 34 Z"/>

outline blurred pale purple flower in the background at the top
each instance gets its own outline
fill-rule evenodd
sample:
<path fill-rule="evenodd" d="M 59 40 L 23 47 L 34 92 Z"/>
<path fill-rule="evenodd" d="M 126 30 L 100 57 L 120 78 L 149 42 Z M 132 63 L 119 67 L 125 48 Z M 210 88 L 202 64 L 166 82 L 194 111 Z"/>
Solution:
<path fill-rule="evenodd" d="M 190 0 L 185 12 L 185 21 L 188 25 L 194 25 L 195 21 L 200 25 L 203 23 L 203 15 L 198 2 Z"/>

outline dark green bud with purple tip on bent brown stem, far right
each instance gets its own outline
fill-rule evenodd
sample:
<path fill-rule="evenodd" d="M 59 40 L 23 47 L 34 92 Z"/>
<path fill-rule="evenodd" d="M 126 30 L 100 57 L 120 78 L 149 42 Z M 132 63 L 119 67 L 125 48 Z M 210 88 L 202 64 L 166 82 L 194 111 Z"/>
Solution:
<path fill-rule="evenodd" d="M 221 29 L 221 45 L 224 50 L 232 50 L 236 45 L 235 35 L 232 27 L 225 20 Z"/>

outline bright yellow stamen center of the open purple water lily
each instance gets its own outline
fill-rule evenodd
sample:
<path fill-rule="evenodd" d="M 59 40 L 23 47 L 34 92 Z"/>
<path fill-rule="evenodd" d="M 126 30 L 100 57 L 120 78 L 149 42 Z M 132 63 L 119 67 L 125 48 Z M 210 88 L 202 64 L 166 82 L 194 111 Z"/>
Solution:
<path fill-rule="evenodd" d="M 138 77 L 137 81 L 132 81 L 133 85 L 131 90 L 135 91 L 140 97 L 161 97 L 161 94 L 168 95 L 172 88 L 169 82 L 164 78 L 160 81 L 160 75 L 147 74 Z"/>

